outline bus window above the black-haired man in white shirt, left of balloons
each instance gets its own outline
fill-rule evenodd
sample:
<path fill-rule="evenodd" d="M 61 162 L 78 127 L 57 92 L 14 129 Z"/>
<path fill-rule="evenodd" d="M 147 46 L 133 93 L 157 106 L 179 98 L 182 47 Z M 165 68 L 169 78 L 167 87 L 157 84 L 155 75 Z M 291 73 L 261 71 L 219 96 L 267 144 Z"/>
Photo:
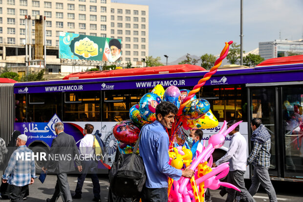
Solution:
<path fill-rule="evenodd" d="M 100 91 L 65 92 L 63 121 L 100 121 Z"/>

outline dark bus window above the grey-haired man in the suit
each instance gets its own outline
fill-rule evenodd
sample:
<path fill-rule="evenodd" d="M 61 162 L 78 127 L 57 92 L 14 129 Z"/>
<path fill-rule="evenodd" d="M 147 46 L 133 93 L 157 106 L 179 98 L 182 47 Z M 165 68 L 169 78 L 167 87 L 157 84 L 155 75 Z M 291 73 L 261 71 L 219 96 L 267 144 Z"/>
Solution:
<path fill-rule="evenodd" d="M 56 113 L 61 117 L 61 93 L 28 94 L 27 122 L 48 122 Z"/>

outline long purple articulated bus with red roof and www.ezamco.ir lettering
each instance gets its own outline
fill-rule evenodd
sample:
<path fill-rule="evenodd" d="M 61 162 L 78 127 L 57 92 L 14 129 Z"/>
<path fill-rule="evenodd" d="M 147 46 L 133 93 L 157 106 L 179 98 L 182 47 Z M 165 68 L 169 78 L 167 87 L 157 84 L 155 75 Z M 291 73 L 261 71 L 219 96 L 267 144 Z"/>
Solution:
<path fill-rule="evenodd" d="M 117 121 L 129 119 L 130 108 L 145 93 L 157 84 L 192 90 L 208 72 L 188 65 L 147 68 L 155 73 L 145 68 L 117 69 L 73 73 L 57 81 L 11 84 L 13 92 L 8 95 L 14 99 L 1 106 L 8 106 L 6 109 L 15 116 L 6 125 L 12 126 L 8 128 L 11 132 L 15 129 L 26 134 L 28 147 L 39 152 L 49 150 L 57 121 L 64 122 L 65 132 L 76 142 L 83 137 L 84 125 L 91 123 L 105 144 L 104 168 L 109 168 L 117 146 L 112 127 Z M 240 133 L 248 142 L 248 153 L 250 120 L 260 118 L 271 134 L 271 179 L 303 180 L 302 78 L 303 55 L 269 59 L 256 67 L 219 67 L 196 93 L 210 102 L 219 120 L 216 128 L 203 130 L 203 139 L 216 134 L 224 120 L 242 120 Z M 1 131 L 6 141 L 10 134 Z M 214 152 L 215 159 L 228 150 L 230 139 L 226 140 L 224 147 Z M 36 165 L 39 169 L 39 162 Z M 250 177 L 249 169 L 245 177 Z"/>

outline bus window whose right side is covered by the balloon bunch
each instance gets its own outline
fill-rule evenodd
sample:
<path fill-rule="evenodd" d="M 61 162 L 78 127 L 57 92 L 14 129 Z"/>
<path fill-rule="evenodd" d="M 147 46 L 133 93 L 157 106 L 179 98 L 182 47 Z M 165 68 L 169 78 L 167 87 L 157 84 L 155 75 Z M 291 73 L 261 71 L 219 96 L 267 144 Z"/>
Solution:
<path fill-rule="evenodd" d="M 104 90 L 102 94 L 102 121 L 123 121 L 130 119 L 130 108 L 140 102 L 145 90 Z"/>

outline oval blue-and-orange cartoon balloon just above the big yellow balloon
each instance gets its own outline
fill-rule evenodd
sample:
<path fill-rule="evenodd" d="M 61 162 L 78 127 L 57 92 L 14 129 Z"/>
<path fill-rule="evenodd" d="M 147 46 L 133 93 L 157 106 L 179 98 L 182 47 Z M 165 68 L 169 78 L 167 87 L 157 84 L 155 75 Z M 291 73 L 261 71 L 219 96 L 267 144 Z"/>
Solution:
<path fill-rule="evenodd" d="M 197 119 L 210 110 L 210 104 L 204 99 L 190 101 L 183 109 L 183 115 L 187 119 Z"/>

